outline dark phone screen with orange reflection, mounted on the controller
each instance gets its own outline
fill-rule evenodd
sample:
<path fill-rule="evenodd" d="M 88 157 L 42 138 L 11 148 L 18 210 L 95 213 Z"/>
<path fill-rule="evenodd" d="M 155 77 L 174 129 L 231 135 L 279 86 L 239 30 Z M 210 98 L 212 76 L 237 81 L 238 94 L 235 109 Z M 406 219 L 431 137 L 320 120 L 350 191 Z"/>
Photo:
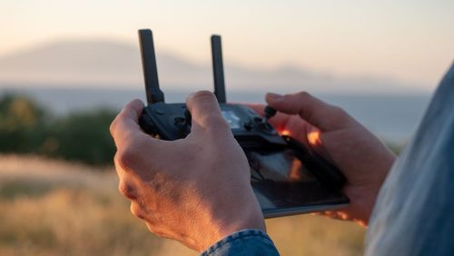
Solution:
<path fill-rule="evenodd" d="M 292 150 L 247 153 L 252 188 L 263 211 L 345 201 L 340 192 L 319 182 L 296 155 Z"/>

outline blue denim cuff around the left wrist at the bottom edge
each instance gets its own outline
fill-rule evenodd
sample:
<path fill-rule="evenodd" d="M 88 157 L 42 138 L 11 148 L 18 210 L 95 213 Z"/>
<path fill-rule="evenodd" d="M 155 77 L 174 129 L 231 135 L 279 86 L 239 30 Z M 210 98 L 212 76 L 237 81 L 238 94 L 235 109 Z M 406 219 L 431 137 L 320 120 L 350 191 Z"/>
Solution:
<path fill-rule="evenodd" d="M 259 230 L 243 230 L 232 233 L 221 241 L 216 242 L 201 254 L 201 256 L 230 255 L 275 256 L 279 255 L 279 252 L 266 233 Z"/>

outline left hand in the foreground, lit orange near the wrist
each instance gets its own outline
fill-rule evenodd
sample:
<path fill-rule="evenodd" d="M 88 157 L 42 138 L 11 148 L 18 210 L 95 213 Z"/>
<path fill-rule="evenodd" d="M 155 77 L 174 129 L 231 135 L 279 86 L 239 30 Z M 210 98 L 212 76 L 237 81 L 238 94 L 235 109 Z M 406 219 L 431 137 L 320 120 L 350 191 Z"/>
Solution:
<path fill-rule="evenodd" d="M 126 105 L 111 125 L 119 189 L 153 233 L 204 251 L 234 231 L 265 231 L 249 164 L 212 93 L 192 94 L 191 133 L 153 139 L 138 124 L 143 103 Z"/>

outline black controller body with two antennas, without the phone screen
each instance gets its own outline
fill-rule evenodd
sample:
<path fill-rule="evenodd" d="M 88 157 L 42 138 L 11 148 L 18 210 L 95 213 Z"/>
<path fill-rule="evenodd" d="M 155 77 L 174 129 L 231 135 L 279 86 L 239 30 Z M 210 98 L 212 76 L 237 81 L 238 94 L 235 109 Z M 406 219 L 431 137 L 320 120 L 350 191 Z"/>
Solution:
<path fill-rule="evenodd" d="M 191 113 L 186 109 L 185 103 L 164 103 L 164 94 L 159 88 L 152 31 L 139 30 L 139 39 L 148 102 L 139 123 L 143 131 L 153 137 L 168 141 L 182 139 L 191 131 Z M 268 119 L 276 113 L 275 110 L 267 107 L 265 116 L 262 117 L 245 105 L 226 103 L 219 35 L 212 35 L 212 64 L 214 94 L 220 103 L 222 115 L 248 156 L 251 166 L 257 165 L 257 160 L 251 159 L 253 153 L 264 151 L 279 153 L 291 150 L 309 170 L 316 170 L 311 171 L 311 174 L 319 181 L 332 189 L 339 190 L 342 187 L 345 177 L 336 167 L 291 137 L 281 136 L 268 123 Z"/>

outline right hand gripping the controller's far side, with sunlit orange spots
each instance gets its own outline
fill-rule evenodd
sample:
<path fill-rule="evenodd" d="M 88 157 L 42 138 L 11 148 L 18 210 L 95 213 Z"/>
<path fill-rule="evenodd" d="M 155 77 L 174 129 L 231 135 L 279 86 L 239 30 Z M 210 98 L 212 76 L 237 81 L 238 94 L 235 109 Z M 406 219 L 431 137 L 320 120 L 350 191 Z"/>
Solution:
<path fill-rule="evenodd" d="M 341 108 L 307 93 L 267 94 L 266 102 L 278 112 L 270 123 L 334 163 L 346 176 L 342 188 L 350 204 L 324 212 L 331 217 L 367 225 L 381 184 L 395 155 Z M 263 105 L 250 105 L 263 113 Z"/>

